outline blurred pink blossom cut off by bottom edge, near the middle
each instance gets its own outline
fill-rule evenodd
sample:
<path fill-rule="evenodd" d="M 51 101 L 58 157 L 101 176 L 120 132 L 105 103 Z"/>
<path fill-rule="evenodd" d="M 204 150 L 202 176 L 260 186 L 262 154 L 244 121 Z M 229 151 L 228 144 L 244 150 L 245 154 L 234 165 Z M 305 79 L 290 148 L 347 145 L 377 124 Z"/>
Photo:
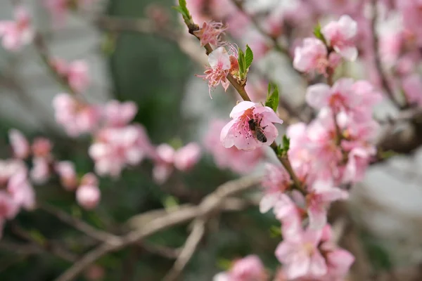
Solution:
<path fill-rule="evenodd" d="M 245 256 L 234 261 L 226 273 L 215 275 L 213 281 L 265 281 L 268 280 L 264 265 L 255 255 Z"/>

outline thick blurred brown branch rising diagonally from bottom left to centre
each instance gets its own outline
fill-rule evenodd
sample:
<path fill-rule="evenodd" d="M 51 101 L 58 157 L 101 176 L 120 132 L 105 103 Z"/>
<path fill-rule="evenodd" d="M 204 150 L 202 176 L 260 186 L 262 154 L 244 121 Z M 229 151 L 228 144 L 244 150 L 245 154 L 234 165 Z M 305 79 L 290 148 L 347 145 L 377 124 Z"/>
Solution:
<path fill-rule="evenodd" d="M 160 230 L 170 228 L 171 226 L 175 226 L 179 223 L 190 221 L 193 218 L 206 220 L 208 217 L 221 210 L 224 198 L 235 195 L 238 192 L 248 190 L 257 185 L 257 183 L 260 183 L 260 180 L 260 176 L 245 176 L 244 178 L 229 181 L 220 185 L 215 192 L 207 195 L 197 207 L 192 209 L 181 209 L 180 211 L 174 211 L 165 216 L 155 218 L 149 223 L 146 223 L 143 228 L 132 230 L 127 233 L 127 235 L 123 235 L 120 237 L 119 242 L 116 242 L 115 244 L 104 242 L 82 256 L 82 259 L 76 261 L 73 266 L 60 275 L 56 281 L 73 280 L 77 277 L 77 275 L 82 273 L 84 269 L 91 265 L 91 263 L 94 263 L 97 259 L 101 258 L 101 256 L 139 242 L 143 238 L 153 235 Z M 193 238 L 191 239 L 193 240 Z"/>

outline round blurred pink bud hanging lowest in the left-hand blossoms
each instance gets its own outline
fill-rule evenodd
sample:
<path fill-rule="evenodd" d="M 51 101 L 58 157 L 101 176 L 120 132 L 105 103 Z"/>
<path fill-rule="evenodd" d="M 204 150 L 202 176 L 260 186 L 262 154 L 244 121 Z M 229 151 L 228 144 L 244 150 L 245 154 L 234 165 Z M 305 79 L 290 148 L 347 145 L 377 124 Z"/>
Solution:
<path fill-rule="evenodd" d="M 94 174 L 89 173 L 82 177 L 81 185 L 76 190 L 76 200 L 84 209 L 94 209 L 101 198 L 98 181 Z"/>

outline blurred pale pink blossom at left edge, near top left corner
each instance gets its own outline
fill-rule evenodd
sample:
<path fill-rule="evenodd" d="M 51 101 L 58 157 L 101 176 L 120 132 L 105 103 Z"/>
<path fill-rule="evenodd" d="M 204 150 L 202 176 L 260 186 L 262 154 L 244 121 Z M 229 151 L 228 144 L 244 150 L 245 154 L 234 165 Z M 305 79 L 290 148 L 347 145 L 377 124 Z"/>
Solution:
<path fill-rule="evenodd" d="M 15 8 L 14 20 L 0 20 L 0 37 L 6 50 L 18 51 L 34 38 L 31 17 L 23 6 Z"/>

